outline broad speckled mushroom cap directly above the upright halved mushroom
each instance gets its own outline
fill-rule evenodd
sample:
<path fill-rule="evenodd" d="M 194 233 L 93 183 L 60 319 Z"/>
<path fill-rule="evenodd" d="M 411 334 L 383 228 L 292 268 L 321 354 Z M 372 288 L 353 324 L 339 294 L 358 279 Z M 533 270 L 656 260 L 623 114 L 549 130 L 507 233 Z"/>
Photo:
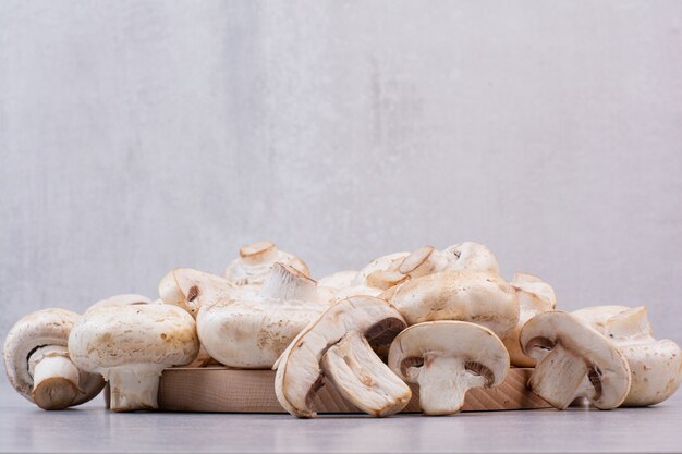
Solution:
<path fill-rule="evenodd" d="M 442 271 L 412 279 L 387 291 L 387 298 L 407 324 L 460 320 L 482 324 L 503 339 L 519 322 L 514 290 L 485 271 Z"/>

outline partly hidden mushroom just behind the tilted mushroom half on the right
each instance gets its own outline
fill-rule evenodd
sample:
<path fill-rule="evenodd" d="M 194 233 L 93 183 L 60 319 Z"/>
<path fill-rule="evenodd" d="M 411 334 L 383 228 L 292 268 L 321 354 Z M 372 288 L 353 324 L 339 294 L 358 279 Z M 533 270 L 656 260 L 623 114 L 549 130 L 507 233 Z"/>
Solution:
<path fill-rule="evenodd" d="M 519 333 L 531 318 L 557 307 L 555 290 L 538 277 L 521 272 L 514 274 L 509 285 L 514 289 L 519 298 L 519 323 L 507 338 L 502 339 L 502 342 L 509 352 L 512 366 L 535 367 L 535 359 L 524 355 L 521 351 Z"/>

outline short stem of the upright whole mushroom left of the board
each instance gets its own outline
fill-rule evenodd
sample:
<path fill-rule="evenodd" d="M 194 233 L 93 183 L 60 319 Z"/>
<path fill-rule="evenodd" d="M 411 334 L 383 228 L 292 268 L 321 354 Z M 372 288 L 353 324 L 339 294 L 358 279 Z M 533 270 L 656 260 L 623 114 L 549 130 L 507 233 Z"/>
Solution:
<path fill-rule="evenodd" d="M 110 407 L 114 412 L 158 408 L 159 377 L 163 365 L 126 365 L 109 369 Z"/>

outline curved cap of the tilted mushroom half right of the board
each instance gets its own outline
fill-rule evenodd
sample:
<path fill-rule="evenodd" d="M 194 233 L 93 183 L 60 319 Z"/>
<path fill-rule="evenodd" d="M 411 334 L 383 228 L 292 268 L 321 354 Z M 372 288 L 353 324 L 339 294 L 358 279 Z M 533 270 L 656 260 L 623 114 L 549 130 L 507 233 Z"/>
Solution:
<path fill-rule="evenodd" d="M 619 348 L 579 317 L 561 310 L 538 314 L 521 329 L 521 347 L 538 363 L 561 344 L 582 356 L 596 370 L 600 393 L 592 401 L 599 408 L 619 406 L 630 390 L 630 367 Z"/>

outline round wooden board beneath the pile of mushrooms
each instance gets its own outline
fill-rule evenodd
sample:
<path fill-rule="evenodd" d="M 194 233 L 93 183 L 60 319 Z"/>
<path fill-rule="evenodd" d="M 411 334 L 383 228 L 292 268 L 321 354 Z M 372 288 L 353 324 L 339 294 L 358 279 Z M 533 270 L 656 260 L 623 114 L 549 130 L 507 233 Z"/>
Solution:
<path fill-rule="evenodd" d="M 510 369 L 499 386 L 466 393 L 464 412 L 549 408 L 526 388 L 533 369 Z M 418 389 L 403 413 L 419 412 Z M 317 393 L 318 413 L 361 413 L 331 384 Z M 166 369 L 159 384 L 159 409 L 167 412 L 287 413 L 275 395 L 275 371 L 223 367 Z"/>

